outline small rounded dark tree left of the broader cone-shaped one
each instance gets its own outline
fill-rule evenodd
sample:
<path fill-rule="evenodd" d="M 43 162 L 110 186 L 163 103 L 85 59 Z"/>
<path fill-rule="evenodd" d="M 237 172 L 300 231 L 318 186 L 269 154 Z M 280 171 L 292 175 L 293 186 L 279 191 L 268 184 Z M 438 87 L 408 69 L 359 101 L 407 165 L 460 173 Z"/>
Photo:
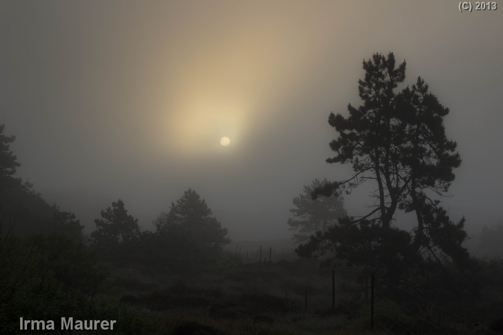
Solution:
<path fill-rule="evenodd" d="M 112 207 L 102 210 L 101 217 L 95 219 L 96 231 L 91 233 L 94 244 L 125 244 L 136 241 L 140 236 L 138 219 L 127 213 L 121 199 L 112 202 Z"/>

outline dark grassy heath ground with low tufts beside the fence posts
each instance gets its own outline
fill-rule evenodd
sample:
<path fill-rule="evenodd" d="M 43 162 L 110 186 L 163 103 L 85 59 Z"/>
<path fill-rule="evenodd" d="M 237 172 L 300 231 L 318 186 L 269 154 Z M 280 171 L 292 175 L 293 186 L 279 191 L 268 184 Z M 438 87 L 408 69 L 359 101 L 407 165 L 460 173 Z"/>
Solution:
<path fill-rule="evenodd" d="M 116 281 L 108 298 L 147 311 L 153 333 L 158 334 L 400 334 L 407 329 L 433 334 L 438 330 L 392 303 L 379 302 L 375 332 L 370 331 L 370 299 L 359 291 L 363 286 L 358 277 L 336 277 L 336 308 L 332 309 L 331 269 L 306 261 L 231 262 L 178 275 L 132 273 Z M 421 317 L 433 320 L 432 312 L 427 314 Z M 449 322 L 444 320 L 442 327 L 451 333 L 476 333 L 477 329 Z"/>

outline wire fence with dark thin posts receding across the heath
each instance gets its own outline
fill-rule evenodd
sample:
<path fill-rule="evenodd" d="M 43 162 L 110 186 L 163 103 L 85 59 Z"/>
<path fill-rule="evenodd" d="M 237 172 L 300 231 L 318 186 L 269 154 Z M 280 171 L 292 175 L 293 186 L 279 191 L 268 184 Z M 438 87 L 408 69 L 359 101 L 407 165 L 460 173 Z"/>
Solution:
<path fill-rule="evenodd" d="M 372 324 L 374 332 L 382 334 L 458 334 L 461 332 L 500 334 L 483 323 L 473 321 L 469 317 L 460 315 L 441 306 L 438 302 L 430 301 L 419 296 L 415 291 L 391 283 L 380 276 L 375 276 L 372 287 L 371 274 L 333 269 L 331 273 L 327 271 L 316 274 L 317 280 L 322 283 L 320 285 L 325 288 L 324 292 L 316 293 L 307 288 L 302 292 L 300 289 L 295 291 L 286 282 L 281 268 L 271 262 L 270 249 L 265 249 L 265 251 L 268 251 L 269 262 L 266 263 L 266 258 L 264 263 L 269 264 L 271 276 L 276 283 L 275 290 L 282 292 L 287 301 L 304 295 L 306 311 L 326 309 L 331 306 L 336 313 L 367 318 L 369 327 Z M 327 287 L 331 287 L 331 292 L 327 292 Z"/>

